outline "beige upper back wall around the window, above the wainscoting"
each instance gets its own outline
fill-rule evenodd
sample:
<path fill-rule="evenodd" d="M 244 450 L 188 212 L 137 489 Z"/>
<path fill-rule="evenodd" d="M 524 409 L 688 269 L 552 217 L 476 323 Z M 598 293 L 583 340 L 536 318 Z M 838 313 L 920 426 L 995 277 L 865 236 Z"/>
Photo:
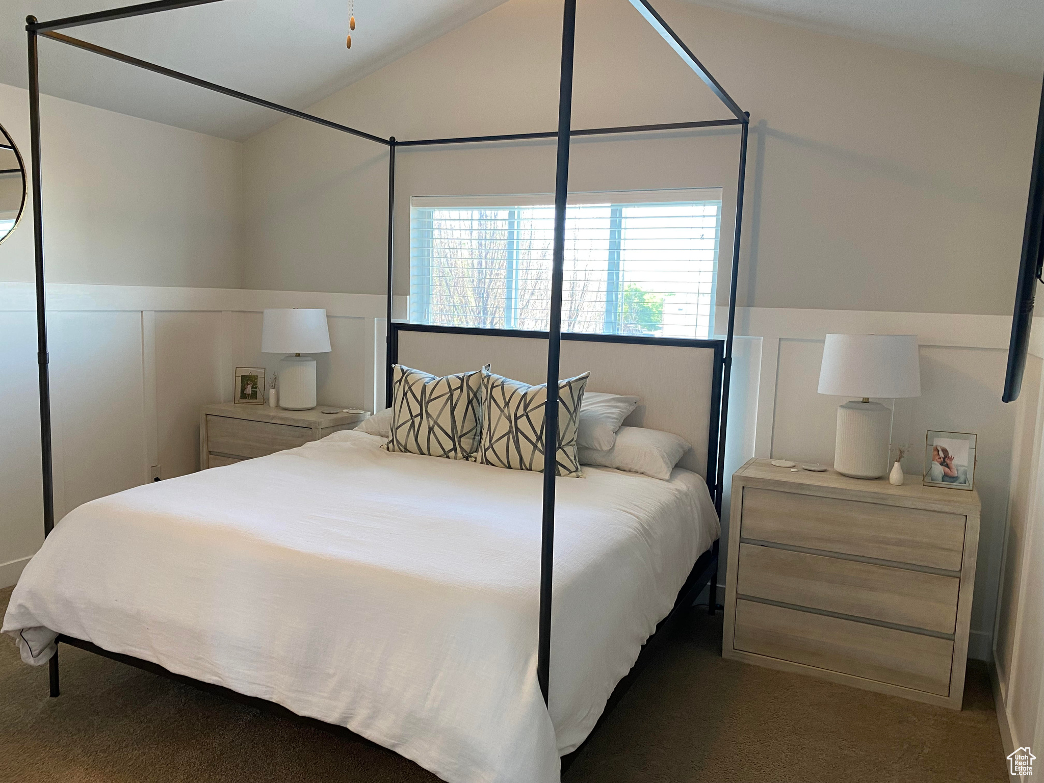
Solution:
<path fill-rule="evenodd" d="M 313 111 L 400 139 L 552 129 L 560 5 L 509 0 Z M 740 305 L 1011 312 L 1039 85 L 660 6 L 751 112 Z M 574 126 L 726 116 L 626 3 L 583 4 L 577 30 Z M 728 214 L 736 147 L 735 129 L 587 140 L 571 187 L 725 186 Z M 246 285 L 382 292 L 386 156 L 298 120 L 248 140 Z M 549 191 L 553 167 L 549 143 L 400 150 L 397 285 L 410 195 Z"/>

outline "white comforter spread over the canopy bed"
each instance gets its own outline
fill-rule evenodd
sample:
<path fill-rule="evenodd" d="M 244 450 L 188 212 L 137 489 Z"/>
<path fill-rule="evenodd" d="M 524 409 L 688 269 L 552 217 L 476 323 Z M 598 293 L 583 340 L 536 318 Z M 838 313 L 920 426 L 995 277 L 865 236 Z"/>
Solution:
<path fill-rule="evenodd" d="M 338 432 L 86 503 L 3 632 L 55 633 L 347 726 L 448 781 L 559 779 L 719 526 L 703 479 L 560 479 L 550 714 L 541 475 Z"/>

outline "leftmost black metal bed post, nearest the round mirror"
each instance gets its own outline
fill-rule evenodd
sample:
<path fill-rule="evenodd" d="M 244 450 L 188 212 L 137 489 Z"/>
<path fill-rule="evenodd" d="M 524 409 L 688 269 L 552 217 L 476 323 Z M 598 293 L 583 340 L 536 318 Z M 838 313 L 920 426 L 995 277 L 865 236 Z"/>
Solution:
<path fill-rule="evenodd" d="M 35 17 L 26 17 L 34 24 Z M 37 31 L 27 30 L 29 52 L 29 160 L 32 168 L 32 243 L 37 277 L 37 367 L 40 374 L 40 459 L 44 489 L 44 538 L 54 529 L 54 474 L 51 456 L 51 379 L 47 355 L 47 293 L 44 287 L 44 210 L 40 166 L 40 65 Z M 58 695 L 58 656 L 48 662 L 51 697 Z"/>

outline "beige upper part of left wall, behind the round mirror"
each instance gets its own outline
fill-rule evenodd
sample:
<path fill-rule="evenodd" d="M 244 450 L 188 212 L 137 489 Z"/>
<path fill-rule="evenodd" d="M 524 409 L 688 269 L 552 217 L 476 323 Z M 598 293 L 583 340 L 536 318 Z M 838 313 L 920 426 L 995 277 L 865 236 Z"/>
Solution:
<path fill-rule="evenodd" d="M 0 85 L 0 124 L 28 165 L 25 90 Z M 41 135 L 48 281 L 241 284 L 241 144 L 46 95 Z M 32 259 L 27 204 L 0 280 L 32 280 Z"/>

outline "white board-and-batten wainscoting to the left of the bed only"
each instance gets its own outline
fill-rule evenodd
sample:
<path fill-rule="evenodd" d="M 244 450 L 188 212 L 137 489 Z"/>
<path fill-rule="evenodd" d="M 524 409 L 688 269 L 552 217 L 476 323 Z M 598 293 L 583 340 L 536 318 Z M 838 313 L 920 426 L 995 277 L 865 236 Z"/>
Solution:
<path fill-rule="evenodd" d="M 384 296 L 54 284 L 48 286 L 55 517 L 199 468 L 199 406 L 232 400 L 236 366 L 261 353 L 266 307 L 324 307 L 333 351 L 317 357 L 319 401 L 383 407 Z M 396 298 L 396 312 L 405 312 Z M 43 542 L 33 287 L 0 283 L 0 587 Z M 379 369 L 379 383 L 375 373 Z M 270 376 L 269 376 L 270 377 Z"/>

